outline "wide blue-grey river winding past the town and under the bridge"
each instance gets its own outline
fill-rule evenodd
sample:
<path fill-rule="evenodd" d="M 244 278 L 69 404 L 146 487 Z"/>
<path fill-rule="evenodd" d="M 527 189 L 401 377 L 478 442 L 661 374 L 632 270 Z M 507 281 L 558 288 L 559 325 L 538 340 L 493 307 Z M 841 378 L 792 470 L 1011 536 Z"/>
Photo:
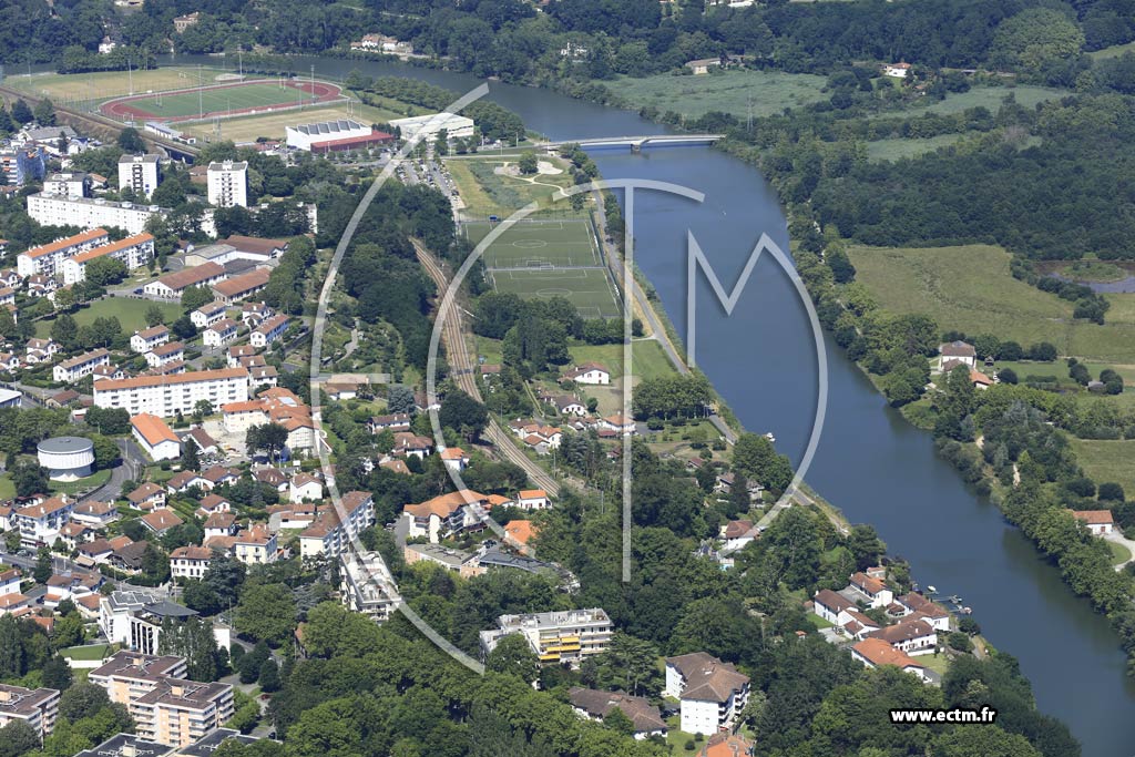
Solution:
<path fill-rule="evenodd" d="M 217 65 L 212 57 L 176 62 Z M 235 62 L 235 61 L 230 61 Z M 299 59 L 316 74 L 411 76 L 454 91 L 471 76 L 393 64 Z M 759 93 L 756 93 L 759 95 Z M 657 134 L 636 113 L 541 90 L 490 84 L 490 99 L 555 140 Z M 686 334 L 687 234 L 692 233 L 726 292 L 760 235 L 788 250 L 775 194 L 760 174 L 707 148 L 658 148 L 642 154 L 591 153 L 604 178 L 656 179 L 704 192 L 700 204 L 656 191 L 636 194 L 636 258 Z M 799 461 L 816 411 L 816 354 L 802 304 L 770 255 L 763 255 L 731 316 L 701 277 L 697 286 L 698 365 L 746 428 L 773 431 Z M 872 523 L 914 575 L 974 608 L 984 634 L 1015 655 L 1037 705 L 1070 727 L 1090 757 L 1135 754 L 1135 684 L 1107 621 L 1077 599 L 1057 570 L 975 496 L 935 454 L 927 434 L 908 426 L 842 352 L 827 347 L 826 422 L 808 482 L 852 522 Z"/>

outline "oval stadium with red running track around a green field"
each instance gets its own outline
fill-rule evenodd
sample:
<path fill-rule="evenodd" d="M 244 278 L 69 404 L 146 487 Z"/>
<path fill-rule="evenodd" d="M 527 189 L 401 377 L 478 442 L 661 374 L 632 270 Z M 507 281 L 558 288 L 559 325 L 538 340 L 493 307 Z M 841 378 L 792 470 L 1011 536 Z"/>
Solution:
<path fill-rule="evenodd" d="M 121 118 L 133 116 L 157 120 L 178 120 L 204 115 L 235 115 L 264 108 L 296 106 L 333 99 L 339 89 L 333 84 L 301 81 L 261 81 L 215 85 L 203 90 L 157 93 L 115 100 L 101 107 L 103 113 Z"/>

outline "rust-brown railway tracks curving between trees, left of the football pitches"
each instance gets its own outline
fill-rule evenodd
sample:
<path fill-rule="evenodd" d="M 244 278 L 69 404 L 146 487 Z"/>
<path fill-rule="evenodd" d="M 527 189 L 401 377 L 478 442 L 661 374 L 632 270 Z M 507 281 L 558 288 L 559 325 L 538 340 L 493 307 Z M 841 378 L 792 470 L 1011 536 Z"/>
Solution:
<path fill-rule="evenodd" d="M 449 279 L 445 275 L 445 271 L 442 270 L 440 264 L 434 259 L 434 255 L 417 242 L 414 242 L 414 251 L 418 253 L 418 260 L 426 269 L 426 272 L 429 274 L 430 278 L 434 279 L 434 284 L 437 285 L 438 293 L 444 293 L 449 285 Z M 439 302 L 439 306 L 443 303 L 444 300 Z M 477 362 L 470 356 L 469 348 L 465 345 L 465 329 L 461 308 L 457 306 L 456 301 L 453 301 L 449 312 L 446 313 L 438 310 L 436 318 L 443 323 L 442 340 L 445 344 L 446 356 L 449 361 L 449 372 L 453 379 L 457 382 L 462 392 L 481 402 L 481 389 L 477 385 Z M 553 497 L 560 494 L 560 482 L 516 448 L 514 437 L 511 432 L 505 431 L 496 421 L 489 419 L 485 436 L 508 462 L 522 468 L 533 483 Z"/>

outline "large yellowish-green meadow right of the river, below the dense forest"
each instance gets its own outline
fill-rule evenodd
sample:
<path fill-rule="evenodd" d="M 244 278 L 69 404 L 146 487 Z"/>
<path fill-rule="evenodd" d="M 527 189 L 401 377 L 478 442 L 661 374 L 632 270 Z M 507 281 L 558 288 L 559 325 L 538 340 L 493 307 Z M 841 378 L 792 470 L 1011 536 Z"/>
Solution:
<path fill-rule="evenodd" d="M 993 334 L 1025 346 L 1051 342 L 1061 355 L 1135 363 L 1135 308 L 1109 311 L 1105 326 L 1074 321 L 1070 303 L 1012 278 L 1009 253 L 1001 247 L 852 247 L 848 252 L 857 279 L 888 310 L 926 313 L 942 329 Z"/>

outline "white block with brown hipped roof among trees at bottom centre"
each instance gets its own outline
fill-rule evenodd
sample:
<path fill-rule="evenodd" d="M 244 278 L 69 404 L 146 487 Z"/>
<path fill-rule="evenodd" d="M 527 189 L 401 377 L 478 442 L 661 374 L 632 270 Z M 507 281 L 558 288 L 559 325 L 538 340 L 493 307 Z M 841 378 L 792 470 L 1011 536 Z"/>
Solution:
<path fill-rule="evenodd" d="M 704 651 L 666 658 L 663 693 L 679 700 L 681 730 L 711 734 L 728 731 L 749 698 L 749 678 Z"/>

